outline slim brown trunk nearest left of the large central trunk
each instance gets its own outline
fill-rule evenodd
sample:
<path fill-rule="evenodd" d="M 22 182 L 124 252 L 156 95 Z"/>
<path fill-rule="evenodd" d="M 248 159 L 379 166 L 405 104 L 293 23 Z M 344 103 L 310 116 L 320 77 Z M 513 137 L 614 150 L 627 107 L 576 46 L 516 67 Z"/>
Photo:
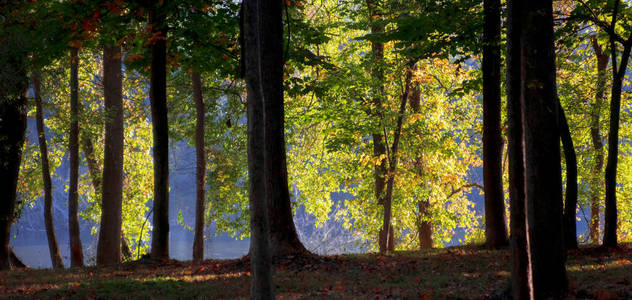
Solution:
<path fill-rule="evenodd" d="M 193 260 L 204 260 L 204 179 L 206 177 L 206 153 L 204 151 L 204 98 L 202 98 L 202 79 L 193 72 L 193 100 L 195 101 L 195 236 L 193 238 Z"/>

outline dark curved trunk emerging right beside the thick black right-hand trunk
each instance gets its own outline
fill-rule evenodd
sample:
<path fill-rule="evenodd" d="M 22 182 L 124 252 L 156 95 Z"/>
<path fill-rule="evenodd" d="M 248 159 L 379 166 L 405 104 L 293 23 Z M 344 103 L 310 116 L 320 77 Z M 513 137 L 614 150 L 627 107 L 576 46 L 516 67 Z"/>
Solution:
<path fill-rule="evenodd" d="M 564 245 L 566 249 L 577 249 L 577 225 L 575 224 L 577 208 L 577 156 L 571 130 L 564 109 L 558 100 L 558 122 L 560 124 L 560 136 L 566 161 L 566 197 L 564 205 Z"/>

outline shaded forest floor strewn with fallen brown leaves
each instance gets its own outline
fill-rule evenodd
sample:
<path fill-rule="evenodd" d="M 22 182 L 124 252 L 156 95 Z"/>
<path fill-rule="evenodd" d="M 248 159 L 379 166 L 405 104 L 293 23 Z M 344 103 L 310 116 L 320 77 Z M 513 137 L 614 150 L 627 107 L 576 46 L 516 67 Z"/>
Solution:
<path fill-rule="evenodd" d="M 275 265 L 279 299 L 500 299 L 510 277 L 508 250 L 475 246 L 392 255 L 294 257 Z M 632 245 L 571 251 L 570 298 L 632 299 Z M 0 298 L 247 298 L 246 258 L 203 263 L 136 261 L 116 266 L 0 272 Z"/>

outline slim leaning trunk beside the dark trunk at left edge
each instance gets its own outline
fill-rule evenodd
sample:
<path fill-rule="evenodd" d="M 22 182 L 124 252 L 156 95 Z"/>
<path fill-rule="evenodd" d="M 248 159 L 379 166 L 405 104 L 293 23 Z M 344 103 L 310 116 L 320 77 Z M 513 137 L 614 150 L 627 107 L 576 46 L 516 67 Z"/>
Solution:
<path fill-rule="evenodd" d="M 59 245 L 57 244 L 57 236 L 55 235 L 55 225 L 53 224 L 53 187 L 50 179 L 46 133 L 44 132 L 44 112 L 40 94 L 39 74 L 37 72 L 33 75 L 33 90 L 35 91 L 37 137 L 39 140 L 40 158 L 42 160 L 42 181 L 44 182 L 44 224 L 46 226 L 46 238 L 48 239 L 50 260 L 53 263 L 53 268 L 57 269 L 63 268 L 64 262 L 59 253 Z"/>

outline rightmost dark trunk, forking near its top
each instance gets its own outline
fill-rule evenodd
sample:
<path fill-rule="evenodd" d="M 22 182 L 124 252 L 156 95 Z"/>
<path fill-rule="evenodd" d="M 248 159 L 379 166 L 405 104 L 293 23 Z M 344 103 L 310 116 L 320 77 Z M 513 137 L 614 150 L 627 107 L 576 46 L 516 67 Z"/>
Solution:
<path fill-rule="evenodd" d="M 612 37 L 611 37 L 612 39 Z M 604 210 L 603 245 L 617 247 L 617 162 L 619 160 L 619 114 L 621 111 L 621 88 L 630 58 L 629 43 L 623 48 L 621 64 L 617 68 L 614 40 L 612 45 L 612 90 L 610 92 L 610 130 L 608 131 L 608 161 L 606 163 L 606 207 Z"/>

